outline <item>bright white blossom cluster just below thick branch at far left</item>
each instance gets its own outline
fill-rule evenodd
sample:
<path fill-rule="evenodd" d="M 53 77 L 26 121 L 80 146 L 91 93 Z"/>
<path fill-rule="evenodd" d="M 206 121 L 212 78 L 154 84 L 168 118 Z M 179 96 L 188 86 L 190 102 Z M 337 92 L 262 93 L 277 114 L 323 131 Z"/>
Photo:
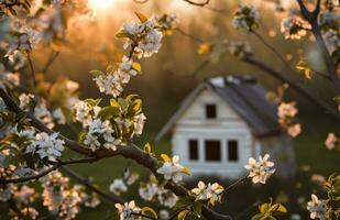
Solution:
<path fill-rule="evenodd" d="M 62 156 L 64 151 L 64 141 L 57 139 L 58 133 L 48 135 L 45 132 L 37 133 L 35 140 L 32 140 L 28 145 L 25 153 L 39 154 L 41 158 L 56 161 L 56 157 Z"/>

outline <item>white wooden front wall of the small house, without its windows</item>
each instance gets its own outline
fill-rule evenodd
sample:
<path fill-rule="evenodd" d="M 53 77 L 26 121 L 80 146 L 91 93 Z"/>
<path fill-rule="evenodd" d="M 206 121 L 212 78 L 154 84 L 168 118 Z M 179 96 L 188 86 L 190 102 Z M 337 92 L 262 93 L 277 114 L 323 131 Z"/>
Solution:
<path fill-rule="evenodd" d="M 217 119 L 206 119 L 205 106 L 217 105 Z M 189 160 L 188 140 L 198 140 L 199 160 Z M 221 162 L 204 160 L 205 140 L 221 141 Z M 227 141 L 238 140 L 239 161 L 229 162 Z M 180 163 L 188 166 L 194 175 L 219 175 L 238 178 L 245 173 L 244 164 L 250 156 L 259 154 L 248 124 L 219 96 L 210 89 L 202 90 L 191 106 L 177 121 L 173 130 L 173 154 L 180 156 Z"/>

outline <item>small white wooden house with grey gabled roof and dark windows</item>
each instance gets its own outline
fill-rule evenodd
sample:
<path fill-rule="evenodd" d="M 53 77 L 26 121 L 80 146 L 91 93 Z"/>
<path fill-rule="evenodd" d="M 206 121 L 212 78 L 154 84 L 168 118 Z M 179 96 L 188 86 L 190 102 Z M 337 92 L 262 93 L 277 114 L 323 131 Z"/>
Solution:
<path fill-rule="evenodd" d="M 172 132 L 172 151 L 196 175 L 234 179 L 249 157 L 268 153 L 276 175 L 295 173 L 293 140 L 277 123 L 276 106 L 251 76 L 210 78 L 198 85 L 156 136 Z"/>

